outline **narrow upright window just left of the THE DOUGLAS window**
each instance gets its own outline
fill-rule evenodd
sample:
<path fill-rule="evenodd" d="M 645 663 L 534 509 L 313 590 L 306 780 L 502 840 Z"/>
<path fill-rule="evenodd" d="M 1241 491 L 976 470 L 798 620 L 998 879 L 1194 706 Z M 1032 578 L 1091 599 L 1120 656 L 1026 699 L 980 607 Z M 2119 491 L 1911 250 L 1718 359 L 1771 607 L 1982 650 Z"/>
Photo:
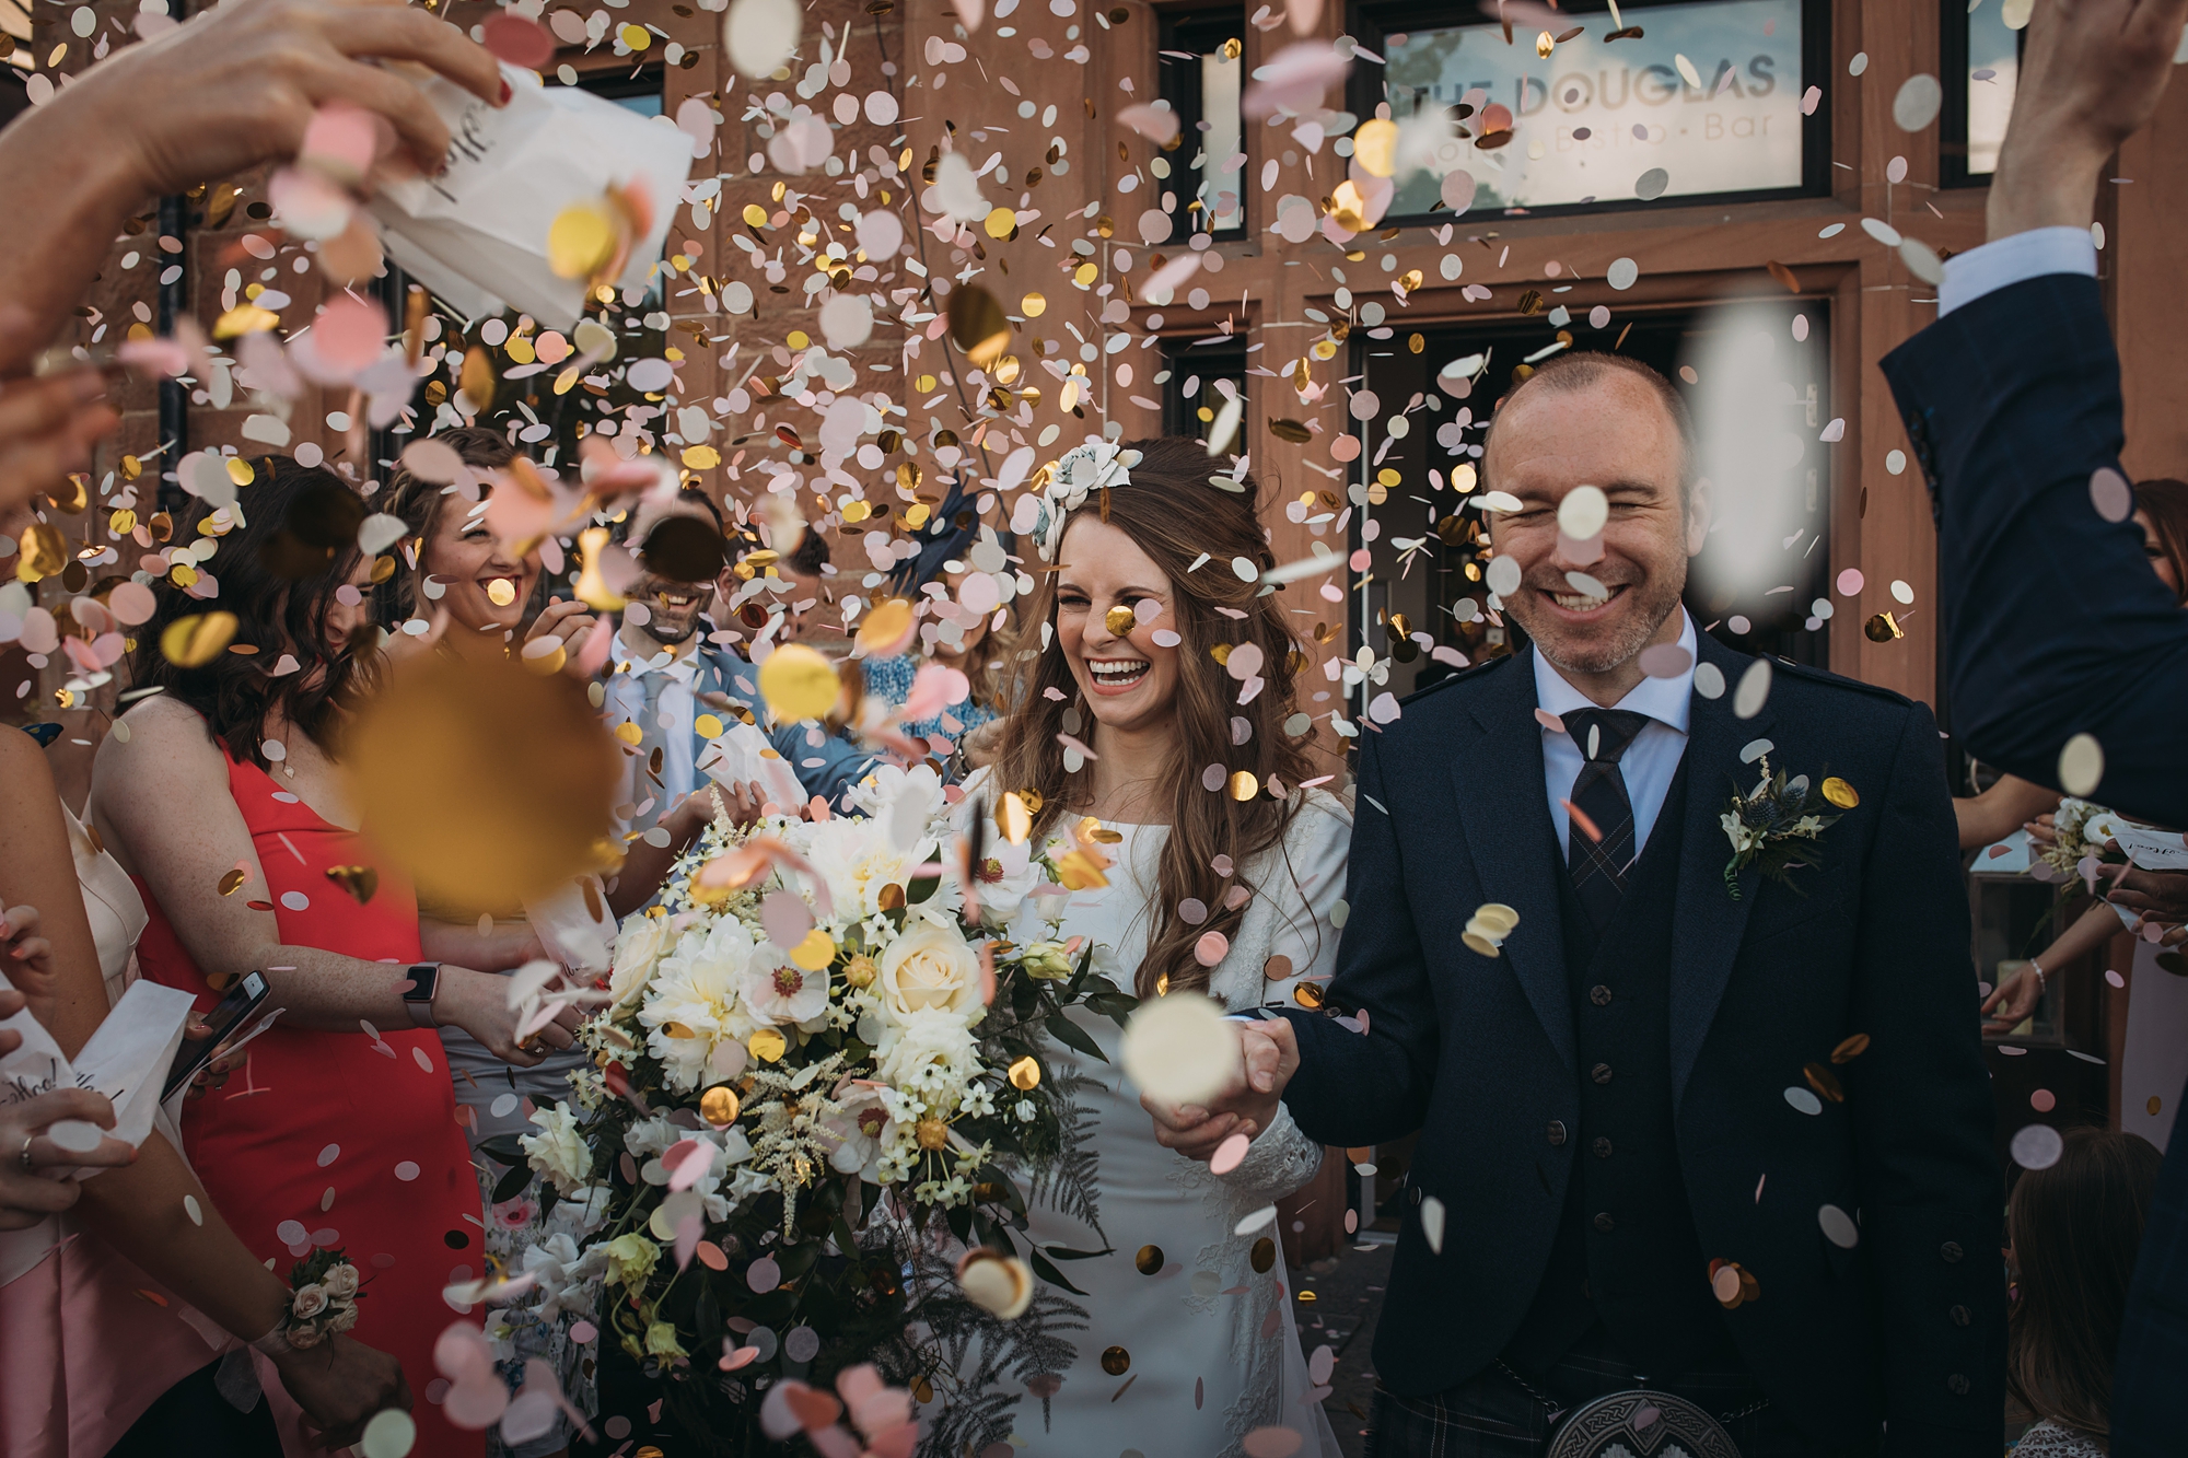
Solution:
<path fill-rule="evenodd" d="M 1155 160 L 1173 217 L 1190 232 L 1245 234 L 1245 9 L 1173 11 L 1162 18 L 1162 99 L 1177 112 L 1177 144 Z"/>

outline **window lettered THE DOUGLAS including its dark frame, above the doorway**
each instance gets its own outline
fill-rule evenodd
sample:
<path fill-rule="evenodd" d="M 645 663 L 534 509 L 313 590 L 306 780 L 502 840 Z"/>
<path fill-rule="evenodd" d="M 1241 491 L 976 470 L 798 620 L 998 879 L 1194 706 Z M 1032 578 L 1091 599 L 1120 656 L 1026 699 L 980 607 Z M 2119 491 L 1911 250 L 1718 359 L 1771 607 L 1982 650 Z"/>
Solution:
<path fill-rule="evenodd" d="M 1448 24 L 1448 4 L 1354 7 L 1352 33 L 1383 57 L 1354 66 L 1354 114 L 1387 105 L 1407 127 L 1442 109 L 1464 131 L 1429 140 L 1427 169 L 1398 175 L 1389 221 L 1433 221 L 1468 193 L 1475 212 L 1536 212 L 1829 188 L 1829 107 L 1820 94 L 1803 107 L 1812 83 L 1827 85 L 1825 0 L 1564 11 L 1564 39 L 1514 24 L 1508 42 L 1497 22 Z M 1453 173 L 1473 188 L 1446 184 Z"/>

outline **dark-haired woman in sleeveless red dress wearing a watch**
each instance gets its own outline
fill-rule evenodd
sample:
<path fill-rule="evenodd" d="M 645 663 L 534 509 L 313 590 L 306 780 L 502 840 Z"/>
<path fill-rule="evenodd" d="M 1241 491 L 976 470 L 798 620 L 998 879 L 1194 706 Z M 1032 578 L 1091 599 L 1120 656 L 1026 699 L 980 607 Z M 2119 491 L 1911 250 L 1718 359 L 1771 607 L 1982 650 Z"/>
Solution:
<path fill-rule="evenodd" d="M 484 1274 L 479 1193 L 435 1027 L 462 1027 L 516 1066 L 538 1053 L 514 1042 L 501 976 L 433 961 L 409 880 L 344 806 L 333 751 L 376 659 L 361 595 L 372 560 L 354 545 L 365 508 L 328 471 L 287 458 L 252 466 L 241 512 L 197 504 L 175 532 L 219 541 L 190 569 L 214 576 L 219 595 L 175 587 L 184 571 L 155 587 L 136 683 L 164 692 L 140 698 L 101 747 L 90 814 L 151 911 L 144 974 L 210 1009 L 217 987 L 260 972 L 267 1007 L 284 1009 L 228 1086 L 184 1114 L 199 1178 L 282 1274 L 315 1248 L 346 1252 L 365 1281 L 354 1340 L 396 1355 L 427 1399 L 414 1405 L 414 1451 L 473 1458 L 484 1436 L 442 1416 L 433 1366 L 435 1338 L 479 1320 L 444 1287 Z M 166 628 L 212 609 L 234 613 L 236 646 L 256 652 L 171 663 Z M 534 1046 L 571 1046 L 573 1025 L 565 1014 Z M 284 1447 L 304 1451 L 295 1405 L 263 1362 L 260 1377 Z"/>

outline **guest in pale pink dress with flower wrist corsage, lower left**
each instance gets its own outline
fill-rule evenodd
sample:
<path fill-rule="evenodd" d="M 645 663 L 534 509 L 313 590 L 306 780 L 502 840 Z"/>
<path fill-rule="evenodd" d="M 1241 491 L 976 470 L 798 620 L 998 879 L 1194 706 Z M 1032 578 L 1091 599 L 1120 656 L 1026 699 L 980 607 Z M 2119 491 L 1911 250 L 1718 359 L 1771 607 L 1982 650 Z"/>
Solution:
<path fill-rule="evenodd" d="M 35 992 L 37 1020 L 72 1057 L 129 976 L 144 904 L 61 806 L 37 742 L 0 731 L 0 902 L 11 900 L 48 911 L 7 913 L 0 930 L 13 946 L 0 965 Z M 44 935 L 24 939 L 24 913 Z M 105 1106 L 88 1090 L 37 1103 L 55 1101 Z M 92 1116 L 112 1123 L 109 1112 Z M 0 1449 L 11 1458 L 278 1454 L 267 1403 L 238 1412 L 214 1388 L 223 1338 L 269 1349 L 282 1386 L 328 1443 L 352 1443 L 374 1412 L 409 1403 L 396 1359 L 354 1338 L 315 1351 L 265 1342 L 289 1316 L 289 1283 L 236 1239 L 177 1141 L 162 1114 L 133 1154 L 114 1138 L 92 1156 L 63 1154 L 70 1167 L 120 1165 L 96 1180 L 28 1180 L 74 1200 L 81 1230 L 46 1219 L 0 1235 L 0 1346 L 9 1353 Z M 37 1162 L 55 1152 L 26 1154 Z M 9 1173 L 18 1173 L 13 1162 Z"/>

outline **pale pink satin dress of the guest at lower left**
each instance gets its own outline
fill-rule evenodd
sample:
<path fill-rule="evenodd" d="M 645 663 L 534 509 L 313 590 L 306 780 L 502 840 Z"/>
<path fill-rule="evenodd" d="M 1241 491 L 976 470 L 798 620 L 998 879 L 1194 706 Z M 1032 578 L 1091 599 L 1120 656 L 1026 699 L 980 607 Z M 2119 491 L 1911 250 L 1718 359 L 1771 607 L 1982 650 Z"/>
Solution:
<path fill-rule="evenodd" d="M 66 814 L 66 810 L 63 810 Z M 70 817 L 107 1005 L 133 981 L 144 902 Z M 166 1141 L 182 1149 L 171 1121 Z M 66 1215 L 0 1230 L 0 1454 L 101 1458 L 232 1338 Z"/>

